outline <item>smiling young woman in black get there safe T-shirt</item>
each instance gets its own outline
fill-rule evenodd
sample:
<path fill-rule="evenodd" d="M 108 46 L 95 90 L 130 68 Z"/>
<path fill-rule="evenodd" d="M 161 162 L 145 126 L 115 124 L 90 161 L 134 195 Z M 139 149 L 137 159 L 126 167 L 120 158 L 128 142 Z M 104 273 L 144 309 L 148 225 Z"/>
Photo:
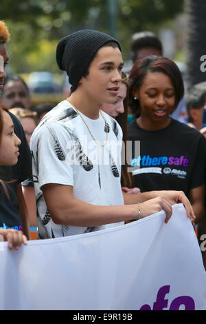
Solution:
<path fill-rule="evenodd" d="M 140 155 L 133 150 L 131 161 L 135 185 L 141 192 L 185 192 L 200 221 L 206 142 L 198 131 L 170 117 L 184 94 L 179 68 L 165 57 L 147 57 L 133 65 L 129 83 L 137 119 L 128 125 L 128 139 L 140 141 Z"/>

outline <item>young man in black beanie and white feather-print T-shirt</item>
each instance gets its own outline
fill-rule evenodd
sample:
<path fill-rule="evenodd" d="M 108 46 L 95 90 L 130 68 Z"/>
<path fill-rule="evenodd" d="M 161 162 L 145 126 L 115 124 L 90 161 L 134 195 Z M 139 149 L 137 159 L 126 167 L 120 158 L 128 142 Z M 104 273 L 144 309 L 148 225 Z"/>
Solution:
<path fill-rule="evenodd" d="M 182 192 L 122 194 L 122 130 L 100 110 L 117 99 L 123 66 L 119 42 L 80 30 L 58 43 L 56 61 L 69 76 L 71 95 L 45 115 L 31 139 L 39 237 L 100 230 L 160 210 L 167 222 L 178 202 L 194 220 Z"/>

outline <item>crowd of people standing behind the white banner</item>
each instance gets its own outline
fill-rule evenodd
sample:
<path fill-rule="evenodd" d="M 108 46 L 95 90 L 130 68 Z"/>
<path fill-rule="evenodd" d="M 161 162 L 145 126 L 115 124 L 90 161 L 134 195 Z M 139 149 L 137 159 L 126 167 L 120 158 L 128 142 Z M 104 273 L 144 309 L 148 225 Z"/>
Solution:
<path fill-rule="evenodd" d="M 54 108 L 32 107 L 25 81 L 5 78 L 9 37 L 0 21 L 0 234 L 9 247 L 26 244 L 30 226 L 38 227 L 38 239 L 54 239 L 161 210 L 168 223 L 175 203 L 185 205 L 200 239 L 206 85 L 185 93 L 178 66 L 163 57 L 152 32 L 133 35 L 133 67 L 124 74 L 117 39 L 79 30 L 56 48 L 69 97 Z"/>

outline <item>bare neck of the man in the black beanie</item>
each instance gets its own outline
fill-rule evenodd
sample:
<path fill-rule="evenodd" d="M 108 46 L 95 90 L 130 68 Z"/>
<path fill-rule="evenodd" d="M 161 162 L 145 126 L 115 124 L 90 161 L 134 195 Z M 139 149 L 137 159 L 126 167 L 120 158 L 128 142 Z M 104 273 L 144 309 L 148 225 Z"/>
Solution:
<path fill-rule="evenodd" d="M 98 119 L 101 105 L 92 100 L 86 99 L 84 96 L 73 92 L 67 99 L 78 111 L 91 119 Z"/>

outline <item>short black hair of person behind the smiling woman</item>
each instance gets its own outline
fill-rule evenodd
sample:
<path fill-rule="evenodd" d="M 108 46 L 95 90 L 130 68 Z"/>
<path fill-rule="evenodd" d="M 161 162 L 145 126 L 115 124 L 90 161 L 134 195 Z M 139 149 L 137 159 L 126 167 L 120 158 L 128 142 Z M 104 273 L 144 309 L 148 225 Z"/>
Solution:
<path fill-rule="evenodd" d="M 130 55 L 133 62 L 136 61 L 137 51 L 141 48 L 156 48 L 163 54 L 162 43 L 154 32 L 136 32 L 130 42 Z"/>

